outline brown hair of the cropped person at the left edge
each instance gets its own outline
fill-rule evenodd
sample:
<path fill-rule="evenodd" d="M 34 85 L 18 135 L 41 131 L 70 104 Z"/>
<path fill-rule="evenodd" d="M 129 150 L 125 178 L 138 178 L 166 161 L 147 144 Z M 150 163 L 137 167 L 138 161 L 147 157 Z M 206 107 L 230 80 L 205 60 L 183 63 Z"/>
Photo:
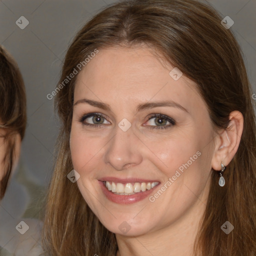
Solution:
<path fill-rule="evenodd" d="M 0 46 L 0 128 L 4 130 L 7 151 L 4 157 L 4 175 L 0 180 L 0 199 L 7 187 L 14 160 L 13 134 L 24 137 L 26 126 L 26 96 L 24 82 L 16 61 Z"/>

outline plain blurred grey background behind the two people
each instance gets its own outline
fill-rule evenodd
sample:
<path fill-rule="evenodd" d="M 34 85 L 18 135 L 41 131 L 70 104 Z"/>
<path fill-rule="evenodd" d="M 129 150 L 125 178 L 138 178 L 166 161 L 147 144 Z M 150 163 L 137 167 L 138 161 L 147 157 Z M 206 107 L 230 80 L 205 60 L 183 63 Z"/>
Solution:
<path fill-rule="evenodd" d="M 47 99 L 46 95 L 58 81 L 61 62 L 72 37 L 88 18 L 111 2 L 114 1 L 0 0 L 0 44 L 20 67 L 26 86 L 28 117 L 19 164 L 0 202 L 2 246 L 17 235 L 15 225 L 20 219 L 40 218 L 58 131 L 53 99 Z M 256 92 L 256 0 L 208 2 L 222 17 L 228 15 L 234 20 L 231 30 L 242 48 L 253 92 Z M 20 16 L 29 21 L 24 29 L 15 24 Z"/>

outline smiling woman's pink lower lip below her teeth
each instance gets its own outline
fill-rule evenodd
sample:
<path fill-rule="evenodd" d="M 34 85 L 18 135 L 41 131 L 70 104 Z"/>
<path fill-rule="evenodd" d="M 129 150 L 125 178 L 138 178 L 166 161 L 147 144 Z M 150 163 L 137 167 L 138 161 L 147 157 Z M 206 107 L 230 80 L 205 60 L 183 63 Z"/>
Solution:
<path fill-rule="evenodd" d="M 102 188 L 102 191 L 106 198 L 112 202 L 120 203 L 120 204 L 129 204 L 129 203 L 134 203 L 138 202 L 140 200 L 143 200 L 145 197 L 148 197 L 149 194 L 154 190 L 155 187 L 157 187 L 159 184 L 156 186 L 152 187 L 149 190 L 146 190 L 144 192 L 138 192 L 134 193 L 131 195 L 120 195 L 120 194 L 114 194 L 113 192 L 109 191 L 106 186 L 104 185 L 103 181 L 99 181 L 99 184 Z"/>

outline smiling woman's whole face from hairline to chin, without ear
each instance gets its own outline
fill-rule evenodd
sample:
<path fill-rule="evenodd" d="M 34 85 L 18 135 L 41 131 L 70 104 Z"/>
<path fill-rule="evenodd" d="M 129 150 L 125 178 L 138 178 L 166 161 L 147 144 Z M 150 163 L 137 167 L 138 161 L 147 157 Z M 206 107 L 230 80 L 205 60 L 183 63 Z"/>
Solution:
<path fill-rule="evenodd" d="M 70 134 L 77 185 L 114 233 L 160 230 L 204 209 L 212 126 L 195 84 L 173 68 L 147 47 L 112 47 L 77 77 Z"/>

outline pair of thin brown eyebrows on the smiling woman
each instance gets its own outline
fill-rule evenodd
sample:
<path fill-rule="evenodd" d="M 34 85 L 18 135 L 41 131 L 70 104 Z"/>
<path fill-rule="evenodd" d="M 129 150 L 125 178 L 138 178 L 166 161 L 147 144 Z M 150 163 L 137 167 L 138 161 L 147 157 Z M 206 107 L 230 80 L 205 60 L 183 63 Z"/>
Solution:
<path fill-rule="evenodd" d="M 111 111 L 111 107 L 110 107 L 109 104 L 103 103 L 103 102 L 100 102 L 100 101 L 87 99 L 87 98 L 82 98 L 82 99 L 78 99 L 73 105 L 75 106 L 79 103 L 88 103 L 89 105 L 102 108 L 106 111 Z M 146 102 L 146 103 L 138 104 L 137 108 L 136 108 L 136 112 L 144 110 L 144 109 L 157 107 L 157 106 L 176 107 L 176 108 L 179 108 L 179 109 L 189 113 L 188 110 L 185 107 L 181 106 L 180 104 L 178 104 L 177 102 L 174 102 L 172 100 L 160 100 L 160 101 Z"/>

